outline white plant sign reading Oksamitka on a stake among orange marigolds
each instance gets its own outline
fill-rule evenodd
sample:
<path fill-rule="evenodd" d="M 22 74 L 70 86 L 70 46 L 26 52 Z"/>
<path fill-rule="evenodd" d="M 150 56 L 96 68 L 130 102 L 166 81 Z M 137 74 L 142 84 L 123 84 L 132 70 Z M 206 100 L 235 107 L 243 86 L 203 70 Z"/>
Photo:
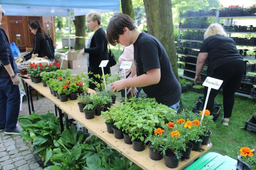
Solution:
<path fill-rule="evenodd" d="M 206 105 L 207 105 L 207 102 L 208 102 L 208 98 L 209 98 L 209 94 L 210 94 L 211 89 L 213 88 L 213 89 L 218 90 L 222 83 L 223 83 L 223 80 L 219 80 L 219 79 L 212 78 L 212 77 L 207 77 L 205 79 L 205 81 L 203 82 L 203 86 L 207 86 L 208 91 L 207 91 L 207 95 L 206 95 L 205 104 L 204 104 L 204 107 L 203 107 L 203 114 L 202 114 L 200 124 L 202 124 L 202 121 L 203 121 L 203 117 L 204 117 L 204 113 L 205 113 L 205 109 L 206 109 Z"/>

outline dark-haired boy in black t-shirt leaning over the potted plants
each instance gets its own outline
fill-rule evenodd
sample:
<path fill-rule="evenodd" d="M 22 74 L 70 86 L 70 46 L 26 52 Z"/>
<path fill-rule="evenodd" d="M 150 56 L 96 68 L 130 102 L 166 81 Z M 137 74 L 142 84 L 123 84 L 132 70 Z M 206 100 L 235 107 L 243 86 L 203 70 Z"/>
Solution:
<path fill-rule="evenodd" d="M 125 86 L 142 87 L 150 98 L 178 110 L 181 85 L 175 77 L 163 45 L 153 36 L 139 31 L 133 19 L 126 14 L 114 15 L 107 26 L 111 45 L 134 45 L 134 63 L 137 77 L 122 79 L 111 84 L 113 92 Z M 128 91 L 129 92 L 129 91 Z"/>

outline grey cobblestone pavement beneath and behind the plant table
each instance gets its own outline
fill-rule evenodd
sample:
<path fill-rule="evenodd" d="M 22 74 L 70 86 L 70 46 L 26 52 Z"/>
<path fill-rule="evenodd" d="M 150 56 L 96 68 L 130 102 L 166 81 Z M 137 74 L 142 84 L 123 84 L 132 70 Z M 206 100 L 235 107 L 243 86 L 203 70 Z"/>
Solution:
<path fill-rule="evenodd" d="M 78 69 L 70 69 L 72 74 L 78 74 L 81 70 L 86 70 L 86 57 L 78 58 Z M 111 73 L 117 72 L 119 66 L 111 67 Z M 33 104 L 35 113 L 44 114 L 49 110 L 51 113 L 55 113 L 54 104 L 47 98 L 38 95 L 33 95 Z M 22 110 L 19 115 L 29 115 L 28 103 L 22 102 Z M 19 127 L 19 123 L 18 123 Z M 6 135 L 4 131 L 0 132 L 0 170 L 42 170 L 43 168 L 35 161 L 33 156 L 33 148 L 31 148 L 30 142 L 23 142 L 20 135 Z"/>

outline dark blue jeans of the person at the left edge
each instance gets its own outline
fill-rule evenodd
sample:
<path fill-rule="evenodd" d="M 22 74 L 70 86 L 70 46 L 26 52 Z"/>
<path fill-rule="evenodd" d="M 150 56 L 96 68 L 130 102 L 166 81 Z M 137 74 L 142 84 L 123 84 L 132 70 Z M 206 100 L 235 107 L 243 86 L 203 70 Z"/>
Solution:
<path fill-rule="evenodd" d="M 0 78 L 0 109 L 0 129 L 13 131 L 20 112 L 20 90 L 10 77 Z"/>

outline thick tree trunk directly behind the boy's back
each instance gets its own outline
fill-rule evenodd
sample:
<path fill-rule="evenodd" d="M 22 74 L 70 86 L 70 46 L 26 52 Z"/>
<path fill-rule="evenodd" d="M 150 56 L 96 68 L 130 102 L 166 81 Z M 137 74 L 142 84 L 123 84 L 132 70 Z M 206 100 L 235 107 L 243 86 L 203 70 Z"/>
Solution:
<path fill-rule="evenodd" d="M 175 39 L 172 22 L 171 0 L 144 0 L 148 34 L 157 38 L 165 48 L 178 79 Z"/>

